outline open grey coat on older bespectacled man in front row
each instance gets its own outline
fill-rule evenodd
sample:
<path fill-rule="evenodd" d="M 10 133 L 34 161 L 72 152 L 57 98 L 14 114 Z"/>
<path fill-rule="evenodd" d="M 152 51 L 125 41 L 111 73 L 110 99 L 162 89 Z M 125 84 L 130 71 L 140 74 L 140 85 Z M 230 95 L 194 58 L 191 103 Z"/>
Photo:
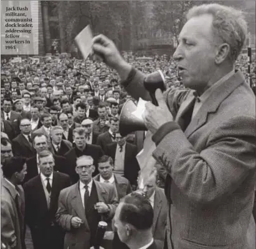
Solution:
<path fill-rule="evenodd" d="M 110 212 L 103 215 L 104 220 L 110 222 L 115 214 L 116 206 L 118 205 L 115 189 L 111 184 L 94 182 L 97 189 L 98 201 L 105 202 L 110 207 Z M 85 216 L 78 183 L 79 182 L 60 192 L 56 220 L 66 232 L 64 249 L 90 248 L 90 228 L 88 227 L 87 217 Z M 73 216 L 81 218 L 84 222 L 78 229 L 71 227 L 71 218 Z"/>

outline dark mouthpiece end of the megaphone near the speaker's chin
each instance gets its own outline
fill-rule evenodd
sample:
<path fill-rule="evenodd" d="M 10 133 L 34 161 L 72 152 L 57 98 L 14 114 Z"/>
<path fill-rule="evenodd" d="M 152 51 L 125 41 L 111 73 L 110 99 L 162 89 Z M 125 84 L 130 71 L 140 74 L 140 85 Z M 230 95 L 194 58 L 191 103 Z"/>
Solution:
<path fill-rule="evenodd" d="M 144 80 L 144 87 L 149 92 L 152 103 L 158 106 L 158 101 L 156 100 L 156 96 L 154 95 L 154 93 L 158 88 L 160 88 L 162 92 L 166 90 L 166 83 L 161 70 L 150 73 Z"/>

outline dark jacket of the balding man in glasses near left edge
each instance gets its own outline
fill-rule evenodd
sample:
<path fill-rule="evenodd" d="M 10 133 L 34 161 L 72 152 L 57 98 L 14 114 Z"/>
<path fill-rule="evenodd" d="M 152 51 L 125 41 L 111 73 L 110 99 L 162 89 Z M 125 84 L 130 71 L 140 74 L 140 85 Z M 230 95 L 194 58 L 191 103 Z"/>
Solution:
<path fill-rule="evenodd" d="M 19 134 L 12 140 L 12 151 L 14 156 L 32 157 L 36 154 L 32 143 L 29 143 L 23 134 Z"/>

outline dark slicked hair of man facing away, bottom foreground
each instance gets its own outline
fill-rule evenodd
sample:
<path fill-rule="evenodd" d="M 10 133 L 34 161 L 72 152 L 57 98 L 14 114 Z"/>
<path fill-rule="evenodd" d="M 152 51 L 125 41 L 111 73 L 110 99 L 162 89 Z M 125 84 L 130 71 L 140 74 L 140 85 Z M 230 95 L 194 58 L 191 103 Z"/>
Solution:
<path fill-rule="evenodd" d="M 154 211 L 146 197 L 133 192 L 123 197 L 121 203 L 121 222 L 129 223 L 138 230 L 148 230 L 152 227 Z"/>

